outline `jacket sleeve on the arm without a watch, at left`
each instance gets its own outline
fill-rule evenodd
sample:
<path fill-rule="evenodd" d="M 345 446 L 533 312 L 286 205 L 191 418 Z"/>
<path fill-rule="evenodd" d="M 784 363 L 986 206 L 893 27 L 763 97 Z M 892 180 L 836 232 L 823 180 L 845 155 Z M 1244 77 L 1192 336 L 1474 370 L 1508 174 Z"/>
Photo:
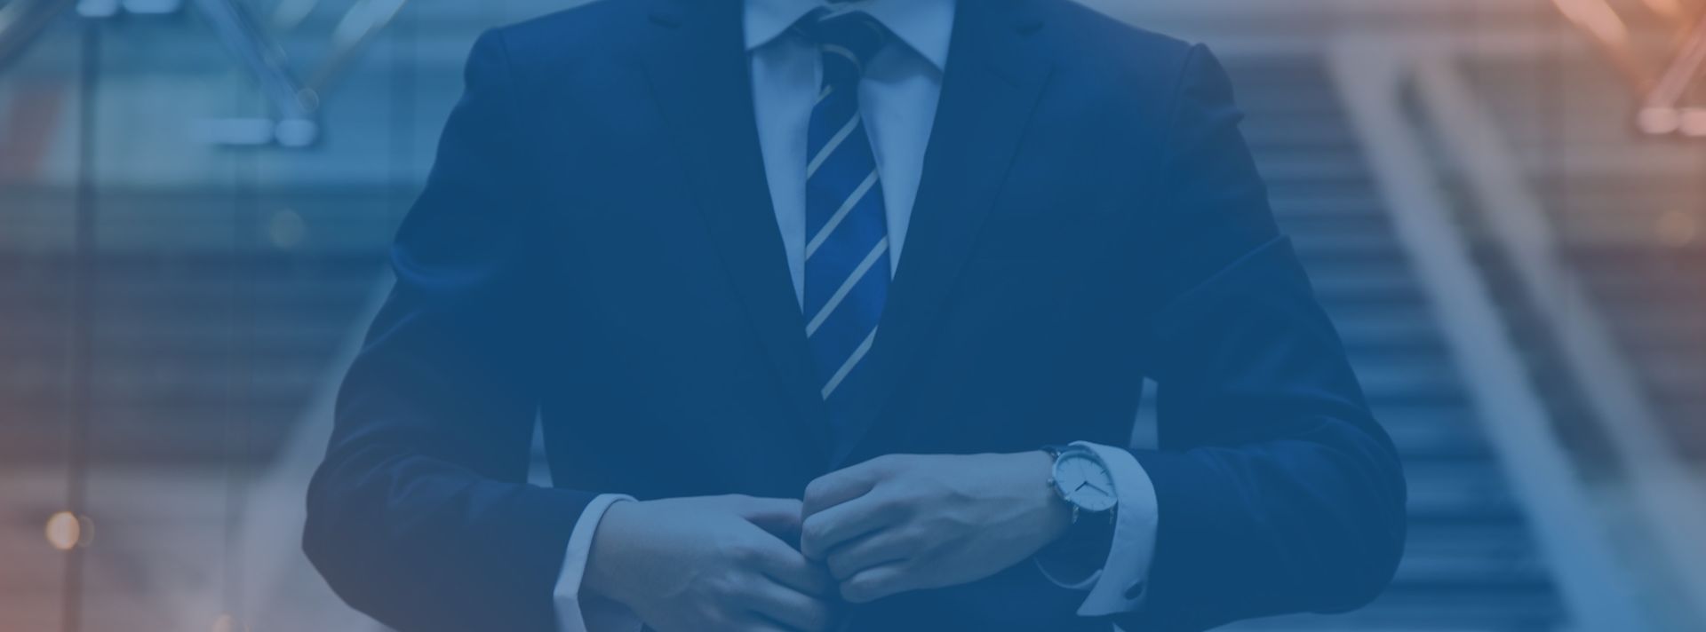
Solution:
<path fill-rule="evenodd" d="M 339 390 L 304 549 L 345 601 L 397 630 L 553 630 L 563 550 L 595 494 L 525 484 L 537 181 L 500 34 L 474 44 L 466 83 Z"/>

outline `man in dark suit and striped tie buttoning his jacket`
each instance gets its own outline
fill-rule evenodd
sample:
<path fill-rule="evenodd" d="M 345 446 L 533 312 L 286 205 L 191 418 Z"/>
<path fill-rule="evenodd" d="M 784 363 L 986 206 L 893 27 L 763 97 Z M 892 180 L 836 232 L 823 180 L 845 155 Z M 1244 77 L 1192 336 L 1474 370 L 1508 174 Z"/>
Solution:
<path fill-rule="evenodd" d="M 490 32 L 307 552 L 399 630 L 1367 603 L 1402 475 L 1237 121 L 1206 49 L 1065 0 L 604 0 Z M 1146 376 L 1160 450 L 1126 450 Z"/>

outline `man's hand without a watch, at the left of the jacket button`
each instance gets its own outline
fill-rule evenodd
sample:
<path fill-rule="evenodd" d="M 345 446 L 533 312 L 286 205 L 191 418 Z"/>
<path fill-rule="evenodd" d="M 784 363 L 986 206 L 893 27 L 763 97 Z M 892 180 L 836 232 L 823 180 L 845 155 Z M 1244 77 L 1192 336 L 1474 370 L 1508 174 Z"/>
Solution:
<path fill-rule="evenodd" d="M 592 537 L 582 588 L 659 632 L 826 632 L 834 581 L 783 542 L 798 531 L 793 499 L 616 503 Z"/>

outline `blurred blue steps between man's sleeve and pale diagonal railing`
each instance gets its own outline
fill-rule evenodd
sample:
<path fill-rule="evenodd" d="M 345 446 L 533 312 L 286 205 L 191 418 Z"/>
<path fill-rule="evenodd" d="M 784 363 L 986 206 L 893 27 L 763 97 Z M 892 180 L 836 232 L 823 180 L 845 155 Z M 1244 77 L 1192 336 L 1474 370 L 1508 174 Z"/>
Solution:
<path fill-rule="evenodd" d="M 1409 545 L 1375 605 L 1245 630 L 1558 630 L 1564 606 L 1392 232 L 1320 60 L 1230 58 L 1245 136 L 1409 477 Z"/>

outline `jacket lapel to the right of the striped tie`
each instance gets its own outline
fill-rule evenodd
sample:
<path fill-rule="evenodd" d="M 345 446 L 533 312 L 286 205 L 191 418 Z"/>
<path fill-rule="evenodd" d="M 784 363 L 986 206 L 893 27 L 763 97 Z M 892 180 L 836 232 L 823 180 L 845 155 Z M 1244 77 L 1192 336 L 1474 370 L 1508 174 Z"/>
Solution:
<path fill-rule="evenodd" d="M 867 366 L 841 387 L 853 404 L 833 467 L 882 417 L 995 206 L 1051 72 L 1030 39 L 1041 27 L 1027 0 L 959 3 L 906 249 Z"/>

